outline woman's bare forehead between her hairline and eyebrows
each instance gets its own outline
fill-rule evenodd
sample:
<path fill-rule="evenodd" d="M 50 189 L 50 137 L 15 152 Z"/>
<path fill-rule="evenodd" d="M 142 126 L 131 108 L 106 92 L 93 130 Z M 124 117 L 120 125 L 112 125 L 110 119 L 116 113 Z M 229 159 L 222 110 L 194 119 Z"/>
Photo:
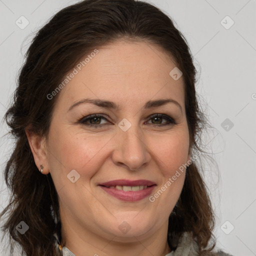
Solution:
<path fill-rule="evenodd" d="M 148 42 L 105 44 L 92 49 L 70 70 L 75 74 L 59 92 L 56 105 L 70 105 L 84 97 L 107 99 L 118 105 L 171 97 L 182 106 L 182 76 L 174 80 L 169 74 L 175 67 L 165 51 Z"/>

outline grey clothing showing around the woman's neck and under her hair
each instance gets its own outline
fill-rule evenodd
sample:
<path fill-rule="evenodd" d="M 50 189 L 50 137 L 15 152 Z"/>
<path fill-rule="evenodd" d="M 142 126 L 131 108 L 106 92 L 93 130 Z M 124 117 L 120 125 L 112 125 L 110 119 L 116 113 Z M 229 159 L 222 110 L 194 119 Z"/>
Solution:
<path fill-rule="evenodd" d="M 55 236 L 55 235 L 54 235 Z M 56 237 L 56 236 L 55 236 Z M 56 241 L 55 246 L 58 247 Z M 165 256 L 198 256 L 199 247 L 197 242 L 192 238 L 191 233 L 184 232 L 178 241 L 175 251 L 167 253 Z M 62 247 L 63 256 L 75 256 L 66 246 Z M 207 256 L 207 254 L 204 254 Z M 212 255 L 212 254 L 211 254 Z M 221 250 L 215 252 L 214 256 L 232 256 Z"/>

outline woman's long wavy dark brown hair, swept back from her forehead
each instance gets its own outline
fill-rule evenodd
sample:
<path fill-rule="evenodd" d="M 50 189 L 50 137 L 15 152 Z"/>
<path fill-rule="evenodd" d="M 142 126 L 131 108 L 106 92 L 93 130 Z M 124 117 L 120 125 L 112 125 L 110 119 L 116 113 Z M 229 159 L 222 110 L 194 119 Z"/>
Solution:
<path fill-rule="evenodd" d="M 161 47 L 172 56 L 182 71 L 185 84 L 185 112 L 190 148 L 200 150 L 201 130 L 206 118 L 199 110 L 195 92 L 196 70 L 187 42 L 170 17 L 157 7 L 136 0 L 84 0 L 58 11 L 33 38 L 19 72 L 12 105 L 5 120 L 14 136 L 14 150 L 5 170 L 5 182 L 11 190 L 8 213 L 2 226 L 8 232 L 10 250 L 13 240 L 28 256 L 59 255 L 54 251 L 53 233 L 60 234 L 58 197 L 50 173 L 41 175 L 34 163 L 25 128 L 45 135 L 49 130 L 52 109 L 58 95 L 51 93 L 64 75 L 91 48 L 126 38 L 144 40 Z M 20 234 L 16 225 L 24 221 L 29 231 Z M 168 244 L 183 231 L 191 231 L 200 251 L 213 238 L 214 214 L 204 181 L 193 162 L 187 169 L 180 197 L 169 216 Z"/>

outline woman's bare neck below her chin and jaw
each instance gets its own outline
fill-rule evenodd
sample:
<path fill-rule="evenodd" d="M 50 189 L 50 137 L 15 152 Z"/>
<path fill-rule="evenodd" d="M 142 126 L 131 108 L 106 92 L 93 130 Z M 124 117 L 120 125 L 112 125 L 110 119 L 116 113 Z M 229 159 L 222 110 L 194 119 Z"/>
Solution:
<path fill-rule="evenodd" d="M 170 252 L 167 227 L 168 223 L 164 222 L 162 227 L 151 235 L 118 237 L 103 232 L 98 235 L 90 231 L 90 228 L 81 228 L 75 221 L 62 220 L 61 243 L 64 242 L 76 256 L 119 256 L 120 251 L 122 256 L 165 256 Z"/>

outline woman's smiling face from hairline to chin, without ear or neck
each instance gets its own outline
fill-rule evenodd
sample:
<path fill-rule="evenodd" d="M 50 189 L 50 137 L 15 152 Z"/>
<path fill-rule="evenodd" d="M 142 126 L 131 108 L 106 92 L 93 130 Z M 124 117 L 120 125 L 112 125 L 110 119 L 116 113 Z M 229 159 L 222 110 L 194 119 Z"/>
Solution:
<path fill-rule="evenodd" d="M 152 44 L 97 50 L 58 92 L 46 143 L 62 226 L 119 239 L 166 230 L 190 159 L 182 76 Z"/>

